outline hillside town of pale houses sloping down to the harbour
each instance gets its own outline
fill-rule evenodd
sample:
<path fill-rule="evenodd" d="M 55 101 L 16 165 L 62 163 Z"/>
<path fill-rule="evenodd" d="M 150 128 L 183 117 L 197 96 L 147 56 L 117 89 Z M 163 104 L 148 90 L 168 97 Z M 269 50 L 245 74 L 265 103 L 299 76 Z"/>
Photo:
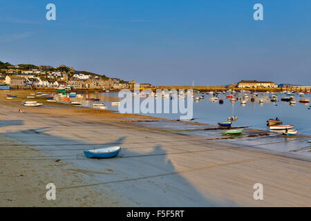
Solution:
<path fill-rule="evenodd" d="M 31 64 L 11 65 L 0 61 L 0 84 L 17 89 L 120 90 L 133 88 L 135 81 L 123 81 L 105 75 L 79 71 L 65 65 L 54 68 Z"/>

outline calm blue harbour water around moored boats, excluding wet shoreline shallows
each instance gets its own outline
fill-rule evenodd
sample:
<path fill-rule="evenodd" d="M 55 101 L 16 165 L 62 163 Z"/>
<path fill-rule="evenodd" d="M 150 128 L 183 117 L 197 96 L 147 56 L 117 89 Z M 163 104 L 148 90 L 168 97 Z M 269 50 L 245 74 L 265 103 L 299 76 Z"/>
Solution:
<path fill-rule="evenodd" d="M 274 103 L 270 101 L 270 94 L 259 95 L 256 97 L 255 102 L 251 102 L 250 98 L 247 99 L 246 105 L 241 105 L 240 101 L 230 102 L 226 98 L 226 94 L 218 95 L 218 99 L 223 99 L 224 103 L 219 104 L 219 102 L 212 102 L 209 98 L 213 95 L 204 95 L 204 99 L 200 99 L 199 102 L 194 101 L 194 115 L 196 118 L 194 122 L 215 124 L 218 122 L 226 122 L 227 117 L 237 116 L 238 120 L 234 121 L 232 126 L 250 126 L 254 129 L 267 130 L 267 119 L 279 117 L 283 121 L 283 124 L 293 124 L 294 128 L 299 131 L 299 134 L 311 135 L 311 104 L 301 104 L 299 99 L 301 96 L 295 93 L 294 95 L 286 95 L 284 93 L 274 93 L 278 95 L 278 102 Z M 244 95 L 241 94 L 241 95 Z M 196 97 L 198 95 L 195 95 Z M 294 96 L 296 101 L 295 105 L 290 105 L 290 102 L 282 102 L 281 97 Z M 249 94 L 249 97 L 251 95 Z M 98 102 L 87 101 L 86 98 L 100 99 Z M 169 99 L 158 97 L 155 99 Z M 263 99 L 264 103 L 259 104 L 259 99 Z M 303 99 L 311 99 L 310 94 L 305 94 Z M 140 97 L 140 102 L 144 98 Z M 120 99 L 117 97 L 117 93 L 89 93 L 84 95 L 83 98 L 71 98 L 70 101 L 82 102 L 83 106 L 92 107 L 93 104 L 104 104 L 107 106 L 108 110 L 118 111 L 118 106 L 111 106 L 111 102 L 118 102 Z M 171 100 L 169 99 L 170 106 Z M 185 99 L 187 103 L 187 98 Z M 156 102 L 155 102 L 156 106 Z M 162 104 L 163 107 L 163 104 Z M 142 113 L 141 113 L 142 114 Z M 166 119 L 179 119 L 179 114 L 165 114 L 165 113 L 147 113 L 145 115 L 150 115 L 153 117 L 162 117 Z"/>

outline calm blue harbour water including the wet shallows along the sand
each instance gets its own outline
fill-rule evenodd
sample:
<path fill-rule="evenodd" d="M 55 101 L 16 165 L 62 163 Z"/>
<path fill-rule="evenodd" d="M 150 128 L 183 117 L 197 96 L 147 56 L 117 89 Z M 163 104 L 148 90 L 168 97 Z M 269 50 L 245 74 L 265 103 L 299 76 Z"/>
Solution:
<path fill-rule="evenodd" d="M 200 99 L 198 102 L 191 99 L 191 102 L 194 104 L 193 117 L 196 118 L 193 122 L 217 125 L 218 122 L 226 122 L 227 117 L 236 115 L 238 120 L 234 121 L 232 126 L 249 126 L 249 128 L 269 131 L 269 128 L 266 126 L 267 119 L 279 117 L 279 119 L 283 120 L 283 124 L 294 125 L 294 129 L 298 131 L 297 135 L 311 135 L 311 110 L 308 109 L 310 108 L 310 104 L 299 103 L 301 96 L 298 94 L 286 95 L 283 93 L 274 93 L 274 95 L 278 95 L 278 102 L 273 103 L 270 101 L 272 94 L 263 95 L 259 93 L 254 102 L 251 102 L 250 98 L 248 98 L 245 106 L 242 106 L 240 101 L 230 102 L 226 98 L 227 95 L 229 93 L 218 95 L 218 99 L 223 99 L 223 104 L 212 102 L 209 98 L 213 95 L 204 95 L 204 99 Z M 244 95 L 244 93 L 241 95 Z M 195 95 L 194 97 L 196 96 L 199 95 Z M 281 97 L 290 96 L 294 96 L 296 105 L 290 105 L 289 102 L 281 101 Z M 250 94 L 249 97 L 251 97 Z M 100 101 L 86 101 L 86 98 L 96 98 L 100 99 Z M 168 99 L 171 106 L 171 99 L 169 98 L 158 97 L 155 99 L 162 99 L 162 102 L 164 99 Z M 263 99 L 264 103 L 259 104 L 259 99 Z M 310 94 L 305 94 L 303 99 L 311 99 Z M 140 102 L 143 100 L 144 98 L 141 97 Z M 92 107 L 94 103 L 104 104 L 108 110 L 118 111 L 118 106 L 111 106 L 111 102 L 117 102 L 119 98 L 117 97 L 117 93 L 89 93 L 84 95 L 84 98 L 73 98 L 70 101 L 82 102 L 83 106 L 88 107 Z M 185 102 L 187 102 L 187 98 Z M 180 119 L 180 115 L 178 114 L 147 113 L 145 115 L 166 119 Z M 180 124 L 180 122 L 144 122 L 141 124 L 160 126 L 167 130 L 178 130 L 179 133 L 200 135 L 208 138 L 223 137 L 219 130 L 200 130 L 207 126 Z M 247 137 L 247 135 L 250 135 L 250 133 L 245 131 L 241 137 L 236 137 L 234 140 L 221 140 L 220 142 L 234 142 L 256 148 L 267 148 L 272 151 L 290 152 L 311 157 L 310 139 L 308 137 L 284 137 L 279 133 L 272 133 L 267 137 Z"/>

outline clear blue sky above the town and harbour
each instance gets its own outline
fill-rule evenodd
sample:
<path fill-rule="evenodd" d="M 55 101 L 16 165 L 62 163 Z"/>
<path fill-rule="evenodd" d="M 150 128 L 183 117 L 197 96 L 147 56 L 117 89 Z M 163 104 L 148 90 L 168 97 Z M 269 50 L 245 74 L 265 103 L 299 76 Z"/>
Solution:
<path fill-rule="evenodd" d="M 0 61 L 11 64 L 155 85 L 311 85 L 310 0 L 2 0 L 0 15 Z"/>

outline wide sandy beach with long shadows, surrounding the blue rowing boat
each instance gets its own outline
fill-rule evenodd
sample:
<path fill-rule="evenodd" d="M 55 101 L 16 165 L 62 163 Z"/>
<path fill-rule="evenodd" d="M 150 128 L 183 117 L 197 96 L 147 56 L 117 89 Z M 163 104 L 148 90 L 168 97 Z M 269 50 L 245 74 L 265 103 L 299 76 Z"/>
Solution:
<path fill-rule="evenodd" d="M 25 107 L 26 92 L 14 93 L 0 91 L 0 206 L 311 206 L 308 158 L 144 126 L 135 120 L 152 117 L 141 115 Z M 115 145 L 122 157 L 83 155 Z"/>

